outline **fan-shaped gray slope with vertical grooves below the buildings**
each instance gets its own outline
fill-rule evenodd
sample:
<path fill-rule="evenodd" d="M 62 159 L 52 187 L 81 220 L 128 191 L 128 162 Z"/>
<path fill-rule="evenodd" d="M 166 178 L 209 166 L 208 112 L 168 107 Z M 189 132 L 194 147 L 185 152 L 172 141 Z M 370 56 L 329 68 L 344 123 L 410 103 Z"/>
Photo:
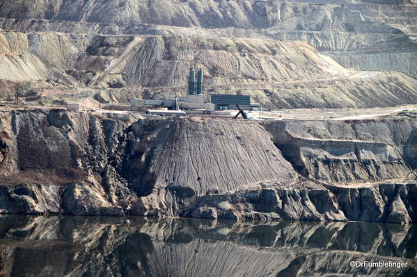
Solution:
<path fill-rule="evenodd" d="M 153 188 L 168 187 L 180 197 L 246 190 L 277 179 L 285 183 L 295 176 L 269 134 L 255 123 L 165 121 L 157 126 L 153 143 L 143 153 L 151 160 L 143 171 L 155 176 Z"/>

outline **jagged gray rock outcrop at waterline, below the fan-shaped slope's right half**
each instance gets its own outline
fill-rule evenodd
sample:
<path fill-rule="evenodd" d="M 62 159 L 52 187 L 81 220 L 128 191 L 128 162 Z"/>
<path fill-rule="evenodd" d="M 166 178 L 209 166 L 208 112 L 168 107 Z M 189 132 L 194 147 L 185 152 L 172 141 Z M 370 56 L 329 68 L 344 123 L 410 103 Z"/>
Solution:
<path fill-rule="evenodd" d="M 323 188 L 261 189 L 199 197 L 184 217 L 246 220 L 333 220 L 347 218 L 333 194 Z"/>

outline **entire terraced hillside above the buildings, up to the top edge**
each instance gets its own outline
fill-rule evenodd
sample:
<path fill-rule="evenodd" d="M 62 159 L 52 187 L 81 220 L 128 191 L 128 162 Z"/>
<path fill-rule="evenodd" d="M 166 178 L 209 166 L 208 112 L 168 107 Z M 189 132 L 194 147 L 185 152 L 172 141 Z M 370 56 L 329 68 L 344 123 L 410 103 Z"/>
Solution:
<path fill-rule="evenodd" d="M 416 103 L 414 2 L 310 2 L 6 1 L 1 93 L 10 98 L 22 84 L 50 101 L 104 89 L 118 102 L 161 97 L 184 93 L 195 65 L 207 90 L 272 108 Z M 378 101 L 384 95 L 390 101 Z"/>

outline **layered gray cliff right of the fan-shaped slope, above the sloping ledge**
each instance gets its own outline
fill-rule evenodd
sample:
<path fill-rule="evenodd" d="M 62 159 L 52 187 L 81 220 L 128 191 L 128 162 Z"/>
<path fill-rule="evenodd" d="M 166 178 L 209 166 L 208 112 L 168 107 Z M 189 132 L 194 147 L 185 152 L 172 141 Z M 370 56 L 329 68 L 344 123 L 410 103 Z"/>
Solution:
<path fill-rule="evenodd" d="M 365 183 L 402 179 L 415 167 L 414 119 L 274 121 L 265 127 L 299 173 L 316 180 Z"/>

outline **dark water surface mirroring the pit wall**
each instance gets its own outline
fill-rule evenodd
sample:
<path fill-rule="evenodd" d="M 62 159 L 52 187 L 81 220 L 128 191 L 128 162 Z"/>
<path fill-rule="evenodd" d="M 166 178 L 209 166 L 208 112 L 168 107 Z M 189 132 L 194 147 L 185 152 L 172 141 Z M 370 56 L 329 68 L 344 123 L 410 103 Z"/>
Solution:
<path fill-rule="evenodd" d="M 0 216 L 0 276 L 416 276 L 416 258 L 417 225 Z"/>

